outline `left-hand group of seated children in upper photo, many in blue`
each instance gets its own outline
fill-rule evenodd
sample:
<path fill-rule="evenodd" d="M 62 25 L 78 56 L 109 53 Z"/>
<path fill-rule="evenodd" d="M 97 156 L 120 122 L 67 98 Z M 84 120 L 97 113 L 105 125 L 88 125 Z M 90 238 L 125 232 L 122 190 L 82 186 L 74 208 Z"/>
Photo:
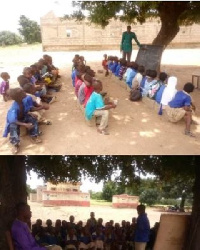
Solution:
<path fill-rule="evenodd" d="M 13 100 L 7 113 L 6 127 L 3 136 L 10 134 L 10 143 L 14 154 L 19 152 L 20 126 L 28 131 L 33 143 L 41 143 L 39 124 L 51 125 L 51 121 L 44 118 L 44 110 L 56 100 L 53 95 L 61 88 L 58 69 L 53 65 L 52 57 L 43 55 L 38 62 L 25 67 L 17 78 L 19 88 L 9 88 L 10 76 L 1 73 L 1 94 L 4 101 Z"/>

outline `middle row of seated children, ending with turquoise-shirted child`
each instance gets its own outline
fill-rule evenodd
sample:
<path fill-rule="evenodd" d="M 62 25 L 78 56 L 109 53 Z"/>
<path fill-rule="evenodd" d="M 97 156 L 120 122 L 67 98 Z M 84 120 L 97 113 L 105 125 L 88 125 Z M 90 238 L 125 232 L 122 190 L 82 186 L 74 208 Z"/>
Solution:
<path fill-rule="evenodd" d="M 86 65 L 83 56 L 75 55 L 72 67 L 72 85 L 77 100 L 84 110 L 85 118 L 100 118 L 97 132 L 108 135 L 109 109 L 116 108 L 117 102 L 111 102 L 103 92 L 102 82 L 95 78 L 95 72 Z"/>

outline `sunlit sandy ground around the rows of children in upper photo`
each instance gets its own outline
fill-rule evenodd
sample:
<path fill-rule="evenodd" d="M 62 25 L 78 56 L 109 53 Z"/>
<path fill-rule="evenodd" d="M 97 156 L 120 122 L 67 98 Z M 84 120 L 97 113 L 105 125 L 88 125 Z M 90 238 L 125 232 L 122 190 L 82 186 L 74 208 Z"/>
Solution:
<path fill-rule="evenodd" d="M 120 56 L 119 51 L 79 51 L 85 56 L 87 64 L 94 70 L 101 69 L 104 53 Z M 119 104 L 110 112 L 109 136 L 100 135 L 95 127 L 89 127 L 82 111 L 77 105 L 71 83 L 71 61 L 77 52 L 49 52 L 54 64 L 60 68 L 63 88 L 56 93 L 58 101 L 51 105 L 46 117 L 53 125 L 41 126 L 44 132 L 43 143 L 31 144 L 27 136 L 21 138 L 20 154 L 177 154 L 197 155 L 200 152 L 200 126 L 192 125 L 191 130 L 196 138 L 183 134 L 184 122 L 171 124 L 157 115 L 157 112 L 144 102 L 131 103 L 128 92 L 121 87 L 114 76 L 105 78 L 97 74 L 103 81 L 104 90 Z M 134 60 L 137 51 L 134 51 Z M 19 47 L 18 49 L 0 49 L 0 71 L 8 71 L 11 75 L 11 87 L 18 86 L 16 78 L 23 67 L 29 66 L 42 57 L 41 46 Z M 178 89 L 191 81 L 194 73 L 200 75 L 200 49 L 166 50 L 163 53 L 161 70 L 178 77 Z M 197 106 L 196 117 L 200 117 L 200 91 L 195 89 L 192 98 Z M 3 133 L 5 118 L 11 101 L 4 103 L 0 99 L 0 134 Z M 8 138 L 0 137 L 0 154 L 11 154 Z"/>

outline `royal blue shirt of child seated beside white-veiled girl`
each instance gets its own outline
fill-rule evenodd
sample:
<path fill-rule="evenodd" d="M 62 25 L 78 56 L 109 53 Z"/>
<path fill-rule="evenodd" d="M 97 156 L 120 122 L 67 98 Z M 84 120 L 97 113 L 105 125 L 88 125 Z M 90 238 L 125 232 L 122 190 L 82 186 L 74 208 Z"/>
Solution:
<path fill-rule="evenodd" d="M 174 99 L 169 102 L 169 106 L 171 108 L 183 108 L 191 105 L 191 97 L 189 94 L 184 91 L 178 91 L 174 97 Z"/>

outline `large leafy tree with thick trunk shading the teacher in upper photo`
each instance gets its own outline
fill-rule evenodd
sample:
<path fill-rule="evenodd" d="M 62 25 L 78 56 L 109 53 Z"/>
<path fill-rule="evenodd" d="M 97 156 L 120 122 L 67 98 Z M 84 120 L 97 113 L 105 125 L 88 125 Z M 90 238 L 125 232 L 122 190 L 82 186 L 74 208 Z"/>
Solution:
<path fill-rule="evenodd" d="M 180 25 L 200 22 L 198 1 L 74 1 L 74 6 L 72 18 L 83 20 L 88 16 L 92 23 L 102 27 L 112 18 L 127 24 L 142 24 L 149 18 L 158 18 L 161 29 L 153 40 L 155 45 L 167 46 L 179 32 Z"/>

